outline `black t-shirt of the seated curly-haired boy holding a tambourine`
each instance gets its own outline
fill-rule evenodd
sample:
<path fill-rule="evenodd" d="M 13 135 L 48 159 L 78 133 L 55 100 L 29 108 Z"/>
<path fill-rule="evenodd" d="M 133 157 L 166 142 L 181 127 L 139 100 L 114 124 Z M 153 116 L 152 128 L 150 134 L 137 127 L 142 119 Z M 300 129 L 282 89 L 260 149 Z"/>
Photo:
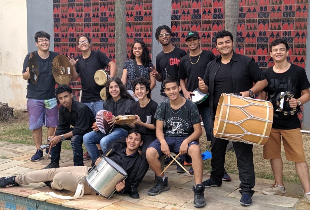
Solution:
<path fill-rule="evenodd" d="M 156 120 L 154 117 L 157 105 L 158 104 L 151 99 L 145 107 L 140 107 L 139 101 L 136 101 L 135 103 L 131 104 L 130 114 L 138 115 L 142 122 L 156 126 Z M 136 128 L 141 130 L 142 134 L 156 135 L 155 130 L 150 130 L 144 126 L 136 125 Z"/>

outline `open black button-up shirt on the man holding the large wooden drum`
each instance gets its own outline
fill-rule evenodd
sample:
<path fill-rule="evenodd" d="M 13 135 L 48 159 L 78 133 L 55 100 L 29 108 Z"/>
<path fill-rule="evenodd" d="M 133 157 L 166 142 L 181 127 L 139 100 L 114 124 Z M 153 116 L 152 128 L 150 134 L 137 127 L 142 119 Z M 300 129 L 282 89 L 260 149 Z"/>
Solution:
<path fill-rule="evenodd" d="M 233 93 L 247 91 L 253 87 L 253 82 L 264 80 L 265 77 L 259 69 L 255 60 L 251 57 L 244 56 L 233 52 L 230 60 L 230 69 L 232 72 L 232 89 Z M 221 66 L 221 56 L 208 63 L 203 80 L 209 88 L 210 114 L 214 118 L 214 80 L 219 67 Z"/>

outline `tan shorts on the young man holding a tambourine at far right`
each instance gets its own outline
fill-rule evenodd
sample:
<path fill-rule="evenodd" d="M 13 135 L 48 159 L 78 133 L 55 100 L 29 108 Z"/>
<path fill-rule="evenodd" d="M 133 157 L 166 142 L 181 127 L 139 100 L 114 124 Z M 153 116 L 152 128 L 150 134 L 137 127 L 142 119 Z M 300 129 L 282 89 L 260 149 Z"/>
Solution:
<path fill-rule="evenodd" d="M 299 128 L 291 130 L 271 129 L 269 139 L 263 146 L 263 158 L 281 158 L 281 135 L 286 160 L 294 162 L 306 161 L 303 150 L 303 139 Z"/>

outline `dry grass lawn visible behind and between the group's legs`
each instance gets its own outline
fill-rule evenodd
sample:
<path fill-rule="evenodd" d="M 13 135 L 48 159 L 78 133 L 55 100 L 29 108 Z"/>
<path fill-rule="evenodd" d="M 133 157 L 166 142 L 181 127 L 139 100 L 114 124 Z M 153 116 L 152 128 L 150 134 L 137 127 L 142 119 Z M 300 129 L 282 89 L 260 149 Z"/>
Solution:
<path fill-rule="evenodd" d="M 14 143 L 22 143 L 34 145 L 32 132 L 29 130 L 28 113 L 24 111 L 14 111 L 14 119 L 8 122 L 0 122 L 0 140 L 10 141 Z M 206 141 L 206 134 L 204 133 L 200 138 L 201 151 L 210 150 L 210 142 Z M 45 136 L 47 128 L 43 126 L 43 144 L 45 143 Z M 306 155 L 306 161 L 310 162 L 310 135 L 303 134 L 303 145 Z M 64 141 L 62 148 L 71 149 L 70 142 Z M 84 148 L 85 151 L 85 148 Z M 284 149 L 282 146 L 281 156 L 283 159 L 283 177 L 285 181 L 300 183 L 300 180 L 295 171 L 294 162 L 286 160 Z M 263 147 L 253 147 L 253 158 L 256 177 L 273 179 L 269 160 L 263 159 Z M 204 168 L 211 170 L 210 159 L 204 161 Z M 238 174 L 237 159 L 234 151 L 226 153 L 225 169 L 228 173 Z"/>

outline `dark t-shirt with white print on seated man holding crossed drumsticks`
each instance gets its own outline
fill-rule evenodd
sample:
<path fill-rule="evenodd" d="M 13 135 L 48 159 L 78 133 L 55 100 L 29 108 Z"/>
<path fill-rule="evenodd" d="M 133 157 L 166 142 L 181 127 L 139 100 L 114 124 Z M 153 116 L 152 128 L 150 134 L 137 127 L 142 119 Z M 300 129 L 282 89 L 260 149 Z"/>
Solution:
<path fill-rule="evenodd" d="M 170 137 L 190 136 L 193 125 L 201 122 L 197 106 L 189 99 L 178 110 L 170 107 L 170 99 L 165 100 L 158 105 L 155 119 L 166 122 L 163 132 Z"/>

